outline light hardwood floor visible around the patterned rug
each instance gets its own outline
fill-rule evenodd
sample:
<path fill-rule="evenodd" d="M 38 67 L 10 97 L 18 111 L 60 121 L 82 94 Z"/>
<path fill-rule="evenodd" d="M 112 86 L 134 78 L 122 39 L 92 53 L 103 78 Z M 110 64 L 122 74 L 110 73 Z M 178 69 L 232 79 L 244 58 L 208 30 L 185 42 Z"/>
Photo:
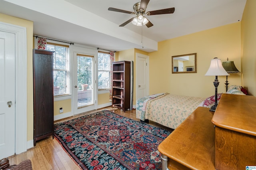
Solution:
<path fill-rule="evenodd" d="M 112 109 L 112 107 L 106 107 L 95 111 L 82 113 L 66 119 L 58 120 L 54 123 L 67 121 L 103 109 L 108 109 L 109 111 L 112 111 L 118 115 L 122 115 L 124 117 L 140 121 L 139 119 L 136 119 L 135 109 L 133 109 L 132 111 L 123 112 L 120 109 Z M 151 121 L 149 122 L 149 124 L 170 130 L 170 128 L 164 127 Z M 58 143 L 58 141 L 55 138 L 52 139 L 52 137 L 48 137 L 44 140 L 36 142 L 36 146 L 30 148 L 26 152 L 17 154 L 9 158 L 9 162 L 10 165 L 14 165 L 19 164 L 20 162 L 26 159 L 31 160 L 33 170 L 80 170 L 79 166 L 76 165 L 76 163 L 68 156 L 68 154 L 63 150 L 62 146 Z"/>

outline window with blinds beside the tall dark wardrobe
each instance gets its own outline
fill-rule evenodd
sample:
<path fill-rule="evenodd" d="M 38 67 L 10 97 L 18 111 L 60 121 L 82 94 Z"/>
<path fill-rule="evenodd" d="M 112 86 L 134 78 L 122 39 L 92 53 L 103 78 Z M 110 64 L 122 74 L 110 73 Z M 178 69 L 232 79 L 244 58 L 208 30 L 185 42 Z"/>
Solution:
<path fill-rule="evenodd" d="M 54 96 L 70 95 L 69 46 L 47 42 L 46 50 L 53 54 Z"/>

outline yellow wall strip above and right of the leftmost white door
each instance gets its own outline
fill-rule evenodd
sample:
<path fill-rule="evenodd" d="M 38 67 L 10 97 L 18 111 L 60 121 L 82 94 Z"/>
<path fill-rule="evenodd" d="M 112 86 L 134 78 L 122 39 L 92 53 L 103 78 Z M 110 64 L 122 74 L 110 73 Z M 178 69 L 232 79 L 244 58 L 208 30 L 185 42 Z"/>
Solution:
<path fill-rule="evenodd" d="M 33 22 L 0 13 L 0 22 L 26 27 L 27 30 L 27 140 L 33 139 Z"/>

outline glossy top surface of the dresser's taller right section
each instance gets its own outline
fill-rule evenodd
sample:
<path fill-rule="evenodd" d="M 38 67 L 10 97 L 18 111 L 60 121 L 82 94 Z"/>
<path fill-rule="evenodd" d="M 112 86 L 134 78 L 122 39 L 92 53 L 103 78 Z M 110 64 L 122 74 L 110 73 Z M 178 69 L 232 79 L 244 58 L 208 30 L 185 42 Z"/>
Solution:
<path fill-rule="evenodd" d="M 212 123 L 217 127 L 256 136 L 256 97 L 223 93 Z"/>

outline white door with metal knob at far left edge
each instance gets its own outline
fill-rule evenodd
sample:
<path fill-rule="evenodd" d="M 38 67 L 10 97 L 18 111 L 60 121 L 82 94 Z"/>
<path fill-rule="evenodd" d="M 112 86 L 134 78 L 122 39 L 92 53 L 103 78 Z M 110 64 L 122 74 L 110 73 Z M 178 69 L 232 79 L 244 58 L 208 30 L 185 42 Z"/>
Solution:
<path fill-rule="evenodd" d="M 15 34 L 0 32 L 0 159 L 15 154 Z"/>

